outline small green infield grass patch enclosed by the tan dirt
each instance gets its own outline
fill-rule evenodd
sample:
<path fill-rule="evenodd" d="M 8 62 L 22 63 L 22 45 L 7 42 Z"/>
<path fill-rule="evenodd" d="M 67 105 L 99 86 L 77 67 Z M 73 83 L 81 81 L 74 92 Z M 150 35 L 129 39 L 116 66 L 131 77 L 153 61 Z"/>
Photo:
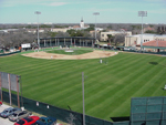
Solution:
<path fill-rule="evenodd" d="M 79 55 L 89 52 L 93 52 L 92 50 L 73 50 L 73 52 L 65 52 L 65 50 L 51 50 L 46 51 L 48 53 L 56 53 L 56 54 L 68 54 L 68 55 Z"/>

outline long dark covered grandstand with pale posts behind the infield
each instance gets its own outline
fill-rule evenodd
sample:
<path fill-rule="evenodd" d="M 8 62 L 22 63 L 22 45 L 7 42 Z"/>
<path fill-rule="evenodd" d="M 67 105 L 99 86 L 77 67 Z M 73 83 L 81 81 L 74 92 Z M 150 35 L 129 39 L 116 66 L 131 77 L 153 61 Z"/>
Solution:
<path fill-rule="evenodd" d="M 35 39 L 38 41 L 38 39 Z M 55 38 L 40 38 L 40 48 L 50 46 L 92 46 L 94 48 L 94 38 L 84 37 L 55 37 Z"/>

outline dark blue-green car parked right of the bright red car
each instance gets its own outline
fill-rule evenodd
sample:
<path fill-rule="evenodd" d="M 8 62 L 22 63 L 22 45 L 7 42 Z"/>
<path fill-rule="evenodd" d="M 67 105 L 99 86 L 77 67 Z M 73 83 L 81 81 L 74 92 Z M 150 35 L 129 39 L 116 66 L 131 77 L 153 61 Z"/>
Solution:
<path fill-rule="evenodd" d="M 54 117 L 40 117 L 33 125 L 56 125 L 56 118 Z"/>

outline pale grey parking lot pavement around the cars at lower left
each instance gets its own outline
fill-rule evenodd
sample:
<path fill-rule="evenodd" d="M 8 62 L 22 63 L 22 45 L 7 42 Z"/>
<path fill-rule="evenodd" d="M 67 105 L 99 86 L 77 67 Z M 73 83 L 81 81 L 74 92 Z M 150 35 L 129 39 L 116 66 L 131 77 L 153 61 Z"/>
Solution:
<path fill-rule="evenodd" d="M 10 106 L 8 106 L 8 105 L 1 105 L 0 106 L 0 112 L 2 112 L 4 108 L 8 108 L 8 107 L 10 107 Z M 8 118 L 2 118 L 2 117 L 0 117 L 0 125 L 13 125 L 14 123 L 12 123 L 12 122 L 10 122 Z"/>

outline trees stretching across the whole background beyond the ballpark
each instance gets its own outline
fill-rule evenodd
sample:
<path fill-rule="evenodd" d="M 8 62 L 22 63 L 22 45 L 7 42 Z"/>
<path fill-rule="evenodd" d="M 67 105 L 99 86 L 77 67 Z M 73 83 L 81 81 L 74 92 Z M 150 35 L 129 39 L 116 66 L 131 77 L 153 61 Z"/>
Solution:
<path fill-rule="evenodd" d="M 41 24 L 40 28 L 68 28 L 72 24 Z M 103 28 L 104 31 L 110 30 L 121 30 L 124 29 L 126 31 L 132 31 L 133 34 L 141 33 L 141 24 L 110 24 L 110 23 L 98 23 L 97 27 Z M 155 30 L 147 30 L 145 33 L 155 33 L 155 34 L 166 34 L 166 25 L 158 24 L 144 24 L 144 28 L 154 28 Z M 37 29 L 37 24 L 0 24 L 0 29 L 19 29 L 14 32 L 9 33 L 0 33 L 0 46 L 20 46 L 23 43 L 33 43 L 37 39 L 37 32 L 30 33 L 27 32 L 25 29 Z M 66 32 L 43 32 L 40 33 L 40 38 L 52 38 L 52 37 L 95 37 L 95 32 L 90 33 L 90 31 L 94 31 L 94 24 L 90 24 L 89 29 L 84 30 L 68 30 Z M 114 45 L 123 45 L 124 44 L 124 34 L 116 35 L 107 35 L 108 43 Z M 96 33 L 96 39 L 100 40 L 100 32 Z"/>

